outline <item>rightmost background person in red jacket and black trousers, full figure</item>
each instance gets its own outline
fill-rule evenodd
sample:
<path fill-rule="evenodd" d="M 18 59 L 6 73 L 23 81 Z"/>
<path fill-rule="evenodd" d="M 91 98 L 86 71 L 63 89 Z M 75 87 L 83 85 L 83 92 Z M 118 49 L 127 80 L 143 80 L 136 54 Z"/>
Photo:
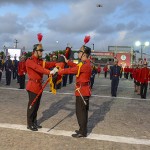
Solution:
<path fill-rule="evenodd" d="M 140 79 L 141 79 L 141 98 L 146 99 L 147 86 L 150 78 L 150 70 L 147 68 L 147 62 L 143 63 L 143 68 L 141 69 Z"/>

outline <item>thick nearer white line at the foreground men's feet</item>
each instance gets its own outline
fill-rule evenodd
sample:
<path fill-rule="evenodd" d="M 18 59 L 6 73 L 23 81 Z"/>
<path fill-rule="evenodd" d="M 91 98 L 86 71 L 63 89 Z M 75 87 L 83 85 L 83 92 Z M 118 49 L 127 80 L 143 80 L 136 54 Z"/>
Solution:
<path fill-rule="evenodd" d="M 19 125 L 19 124 L 0 123 L 0 128 L 30 131 L 27 129 L 26 125 Z M 50 135 L 69 136 L 69 137 L 74 133 L 72 131 L 65 131 L 65 130 L 54 130 L 54 129 L 50 130 L 49 128 L 42 128 L 42 129 L 39 129 L 37 132 L 50 134 Z M 133 137 L 111 136 L 111 135 L 93 134 L 93 133 L 89 134 L 87 136 L 87 139 L 93 139 L 93 140 L 98 140 L 98 141 L 109 141 L 109 142 L 116 142 L 116 143 L 125 143 L 125 144 L 150 145 L 149 139 L 138 139 L 138 138 L 133 138 Z"/>

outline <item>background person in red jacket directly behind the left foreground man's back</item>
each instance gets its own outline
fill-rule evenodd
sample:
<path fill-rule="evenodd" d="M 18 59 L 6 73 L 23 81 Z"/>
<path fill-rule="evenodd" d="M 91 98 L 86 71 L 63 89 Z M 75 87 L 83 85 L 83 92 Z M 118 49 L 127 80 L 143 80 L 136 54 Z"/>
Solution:
<path fill-rule="evenodd" d="M 25 88 L 25 74 L 26 74 L 26 64 L 25 64 L 25 56 L 22 55 L 20 57 L 20 61 L 18 63 L 18 76 L 19 76 L 19 89 Z"/>

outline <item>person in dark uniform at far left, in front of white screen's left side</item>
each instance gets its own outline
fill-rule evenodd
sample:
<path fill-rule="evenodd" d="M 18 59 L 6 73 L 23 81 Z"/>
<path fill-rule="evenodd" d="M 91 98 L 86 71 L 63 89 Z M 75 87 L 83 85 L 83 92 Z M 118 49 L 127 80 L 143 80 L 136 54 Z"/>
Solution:
<path fill-rule="evenodd" d="M 10 85 L 11 82 L 11 72 L 13 69 L 13 63 L 12 60 L 10 59 L 10 55 L 7 56 L 7 60 L 5 62 L 5 71 L 6 71 L 6 85 Z"/>

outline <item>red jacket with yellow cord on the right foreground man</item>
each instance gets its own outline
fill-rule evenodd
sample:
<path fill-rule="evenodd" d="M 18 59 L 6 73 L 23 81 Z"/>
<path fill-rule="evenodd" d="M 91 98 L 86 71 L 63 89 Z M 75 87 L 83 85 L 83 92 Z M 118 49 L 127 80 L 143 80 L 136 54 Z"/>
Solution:
<path fill-rule="evenodd" d="M 82 96 L 91 96 L 91 89 L 89 83 L 92 68 L 90 60 L 87 59 L 85 62 L 83 62 L 81 68 L 79 68 L 79 64 L 77 65 L 72 61 L 68 61 L 68 66 L 70 66 L 70 68 L 62 69 L 58 72 L 58 74 L 76 74 L 75 96 L 81 96 L 80 93 L 82 94 Z"/>

